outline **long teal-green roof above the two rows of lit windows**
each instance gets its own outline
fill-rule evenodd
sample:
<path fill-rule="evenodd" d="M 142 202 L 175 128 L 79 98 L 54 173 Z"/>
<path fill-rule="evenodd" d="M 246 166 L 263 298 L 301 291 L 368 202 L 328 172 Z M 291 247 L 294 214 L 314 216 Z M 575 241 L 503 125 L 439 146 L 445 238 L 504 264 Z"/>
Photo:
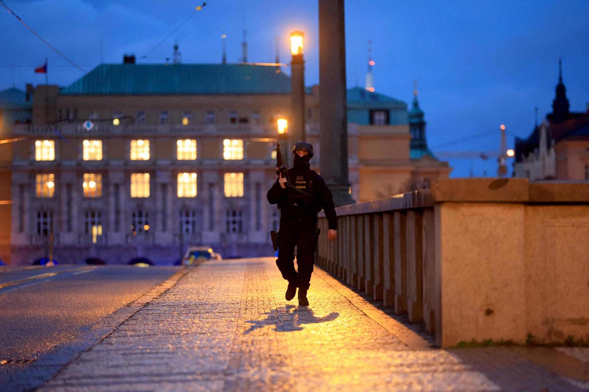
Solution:
<path fill-rule="evenodd" d="M 289 76 L 277 71 L 276 66 L 248 64 L 101 64 L 62 88 L 61 93 L 289 94 Z"/>

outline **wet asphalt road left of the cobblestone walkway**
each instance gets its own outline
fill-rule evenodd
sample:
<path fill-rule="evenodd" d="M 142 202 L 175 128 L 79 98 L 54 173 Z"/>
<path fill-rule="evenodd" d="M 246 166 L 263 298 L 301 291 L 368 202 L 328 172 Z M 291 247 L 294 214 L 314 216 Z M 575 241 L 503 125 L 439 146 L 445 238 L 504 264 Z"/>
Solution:
<path fill-rule="evenodd" d="M 0 363 L 39 359 L 179 268 L 0 267 Z M 22 366 L 0 364 L 0 385 Z"/>

